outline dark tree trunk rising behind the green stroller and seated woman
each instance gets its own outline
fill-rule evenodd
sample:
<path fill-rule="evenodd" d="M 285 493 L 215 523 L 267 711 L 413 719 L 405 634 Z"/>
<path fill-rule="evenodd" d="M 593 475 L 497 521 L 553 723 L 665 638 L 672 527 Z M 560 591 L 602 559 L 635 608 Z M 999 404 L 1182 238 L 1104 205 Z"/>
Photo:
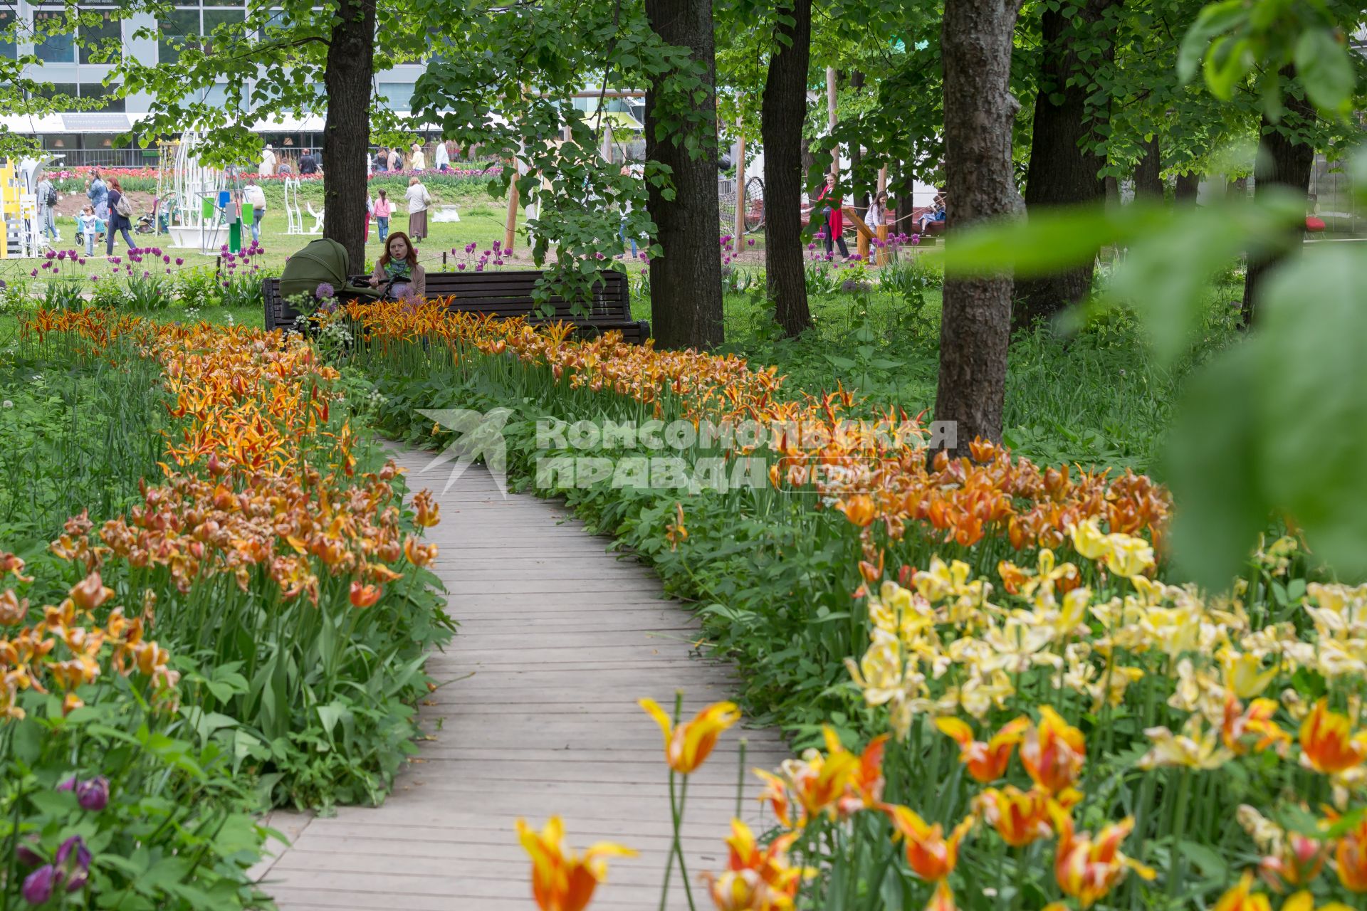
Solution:
<path fill-rule="evenodd" d="M 365 160 L 370 154 L 376 0 L 340 4 L 323 82 L 323 236 L 346 247 L 351 272 L 365 270 Z"/>

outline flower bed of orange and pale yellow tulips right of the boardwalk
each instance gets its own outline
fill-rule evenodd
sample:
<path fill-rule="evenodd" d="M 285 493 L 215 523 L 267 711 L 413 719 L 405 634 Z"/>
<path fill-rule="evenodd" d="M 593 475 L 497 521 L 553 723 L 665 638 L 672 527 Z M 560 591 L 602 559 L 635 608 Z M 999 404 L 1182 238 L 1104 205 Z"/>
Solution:
<path fill-rule="evenodd" d="M 734 356 L 431 306 L 347 316 L 385 428 L 444 444 L 417 408 L 514 408 L 503 430 L 524 485 L 537 459 L 567 453 L 536 433 L 552 418 L 919 428 L 843 393 L 789 395 Z M 1295 531 L 1270 531 L 1226 591 L 1200 591 L 1173 578 L 1173 507 L 1148 478 L 1035 466 L 986 443 L 927 464 L 921 447 L 920 433 L 720 447 L 767 459 L 767 489 L 537 485 L 696 600 L 708 642 L 740 664 L 750 718 L 811 744 L 756 770 L 772 828 L 737 821 L 725 865 L 685 874 L 690 904 L 1362 907 L 1367 586 L 1336 582 Z M 642 725 L 664 731 L 678 819 L 737 706 L 692 721 L 642 707 Z M 586 907 L 607 858 L 632 862 L 633 845 L 577 856 L 565 830 L 519 825 L 544 910 Z"/>

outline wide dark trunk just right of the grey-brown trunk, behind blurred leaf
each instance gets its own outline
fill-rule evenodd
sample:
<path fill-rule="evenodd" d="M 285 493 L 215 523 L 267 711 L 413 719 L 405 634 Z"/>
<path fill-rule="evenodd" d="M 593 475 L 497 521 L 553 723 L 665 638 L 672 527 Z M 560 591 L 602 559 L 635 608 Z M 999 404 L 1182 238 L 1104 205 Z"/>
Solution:
<path fill-rule="evenodd" d="M 1069 79 L 1085 64 L 1070 46 L 1073 30 L 1100 19 L 1107 7 L 1118 0 L 1066 0 L 1076 15 L 1065 16 L 1065 10 L 1046 8 L 1040 23 L 1043 51 L 1040 55 L 1040 85 L 1035 97 L 1035 128 L 1031 137 L 1029 175 L 1025 179 L 1025 206 L 1038 209 L 1092 202 L 1106 195 L 1098 172 L 1106 167 L 1102 156 L 1087 152 L 1081 142 L 1091 123 L 1087 111 L 1087 89 L 1069 85 Z M 1114 53 L 1114 45 L 1109 53 Z M 1055 104 L 1057 102 L 1057 104 Z M 1029 326 L 1081 300 L 1092 287 L 1094 262 L 1040 279 L 1016 283 L 1014 324 Z"/>

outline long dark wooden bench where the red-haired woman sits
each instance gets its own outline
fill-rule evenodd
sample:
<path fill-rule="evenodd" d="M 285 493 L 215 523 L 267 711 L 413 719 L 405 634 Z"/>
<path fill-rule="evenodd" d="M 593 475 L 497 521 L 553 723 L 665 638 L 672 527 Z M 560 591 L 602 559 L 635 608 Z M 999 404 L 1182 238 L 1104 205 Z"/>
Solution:
<path fill-rule="evenodd" d="M 555 316 L 547 317 L 532 299 L 540 272 L 429 272 L 427 299 L 447 300 L 447 310 L 455 313 L 489 313 L 496 317 L 525 317 L 530 325 L 569 322 L 576 335 L 599 335 L 617 329 L 629 344 L 641 344 L 651 337 L 651 324 L 632 318 L 632 298 L 626 276 L 621 272 L 600 272 L 589 299 L 580 300 L 588 313 L 574 313 L 573 303 L 552 296 Z M 265 298 L 265 328 L 293 328 L 299 313 L 280 299 L 280 280 L 261 283 Z"/>

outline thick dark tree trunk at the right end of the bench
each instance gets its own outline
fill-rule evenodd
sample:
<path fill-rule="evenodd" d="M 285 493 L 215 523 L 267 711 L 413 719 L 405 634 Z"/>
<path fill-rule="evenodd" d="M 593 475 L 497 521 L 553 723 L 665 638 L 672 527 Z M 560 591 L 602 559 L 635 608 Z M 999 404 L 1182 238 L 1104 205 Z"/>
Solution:
<path fill-rule="evenodd" d="M 707 100 L 688 107 L 703 120 L 686 122 L 684 131 L 660 134 L 662 115 L 678 109 L 659 87 L 677 72 L 656 75 L 645 93 L 645 157 L 668 165 L 674 198 L 647 184 L 651 219 L 663 257 L 651 258 L 651 321 L 662 348 L 711 348 L 722 344 L 722 264 L 716 235 L 722 224 L 716 199 L 716 59 L 709 0 L 647 0 L 651 29 L 664 44 L 685 46 L 704 70 Z M 696 148 L 689 150 L 689 142 Z"/>

